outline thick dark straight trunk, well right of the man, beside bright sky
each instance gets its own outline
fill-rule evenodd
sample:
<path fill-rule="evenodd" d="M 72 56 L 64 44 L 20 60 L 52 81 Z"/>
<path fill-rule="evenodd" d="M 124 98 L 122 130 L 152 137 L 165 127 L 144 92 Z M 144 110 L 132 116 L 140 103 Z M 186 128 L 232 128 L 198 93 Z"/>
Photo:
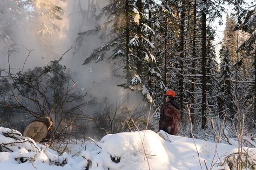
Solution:
<path fill-rule="evenodd" d="M 206 4 L 206 0 L 203 0 L 203 3 Z M 206 128 L 207 119 L 206 119 L 206 58 L 207 58 L 207 49 L 206 49 L 206 9 L 203 9 L 202 12 L 202 129 Z"/>

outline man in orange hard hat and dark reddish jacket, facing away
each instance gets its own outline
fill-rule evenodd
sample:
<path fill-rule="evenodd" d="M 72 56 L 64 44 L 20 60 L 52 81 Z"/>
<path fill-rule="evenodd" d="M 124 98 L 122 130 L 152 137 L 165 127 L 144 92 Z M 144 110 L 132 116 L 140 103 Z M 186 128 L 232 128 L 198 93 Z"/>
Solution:
<path fill-rule="evenodd" d="M 161 108 L 159 131 L 163 130 L 171 135 L 176 135 L 181 121 L 181 111 L 175 103 L 176 94 L 168 90 L 165 94 L 165 103 Z"/>

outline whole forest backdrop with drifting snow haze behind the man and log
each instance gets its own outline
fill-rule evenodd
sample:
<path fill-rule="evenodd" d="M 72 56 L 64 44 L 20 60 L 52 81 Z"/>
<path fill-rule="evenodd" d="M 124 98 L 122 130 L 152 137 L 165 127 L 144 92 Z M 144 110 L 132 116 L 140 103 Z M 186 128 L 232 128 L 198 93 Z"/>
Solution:
<path fill-rule="evenodd" d="M 255 0 L 0 0 L 0 126 L 157 132 L 169 89 L 178 136 L 256 142 Z"/>

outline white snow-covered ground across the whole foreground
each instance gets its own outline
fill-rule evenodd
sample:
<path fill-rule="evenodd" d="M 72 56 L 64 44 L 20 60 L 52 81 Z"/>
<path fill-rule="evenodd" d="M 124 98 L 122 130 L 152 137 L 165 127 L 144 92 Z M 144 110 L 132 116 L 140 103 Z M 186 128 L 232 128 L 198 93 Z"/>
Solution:
<path fill-rule="evenodd" d="M 0 127 L 0 170 L 229 170 L 222 162 L 237 152 L 236 146 L 194 142 L 163 131 L 160 135 L 153 131 L 109 134 L 97 145 L 87 144 L 87 150 L 75 157 L 59 156 L 18 131 Z M 79 149 L 81 144 L 69 146 L 74 152 L 84 150 Z M 244 148 L 243 152 L 256 162 L 256 149 Z"/>

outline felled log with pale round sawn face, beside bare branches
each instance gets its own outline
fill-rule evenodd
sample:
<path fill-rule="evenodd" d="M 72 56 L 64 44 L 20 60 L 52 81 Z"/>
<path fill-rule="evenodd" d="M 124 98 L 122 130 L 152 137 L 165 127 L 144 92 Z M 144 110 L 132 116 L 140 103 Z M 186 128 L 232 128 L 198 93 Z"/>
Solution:
<path fill-rule="evenodd" d="M 35 142 L 42 141 L 51 130 L 53 124 L 52 118 L 50 116 L 43 116 L 37 118 L 27 125 L 25 131 L 23 132 L 24 137 L 30 137 Z"/>

